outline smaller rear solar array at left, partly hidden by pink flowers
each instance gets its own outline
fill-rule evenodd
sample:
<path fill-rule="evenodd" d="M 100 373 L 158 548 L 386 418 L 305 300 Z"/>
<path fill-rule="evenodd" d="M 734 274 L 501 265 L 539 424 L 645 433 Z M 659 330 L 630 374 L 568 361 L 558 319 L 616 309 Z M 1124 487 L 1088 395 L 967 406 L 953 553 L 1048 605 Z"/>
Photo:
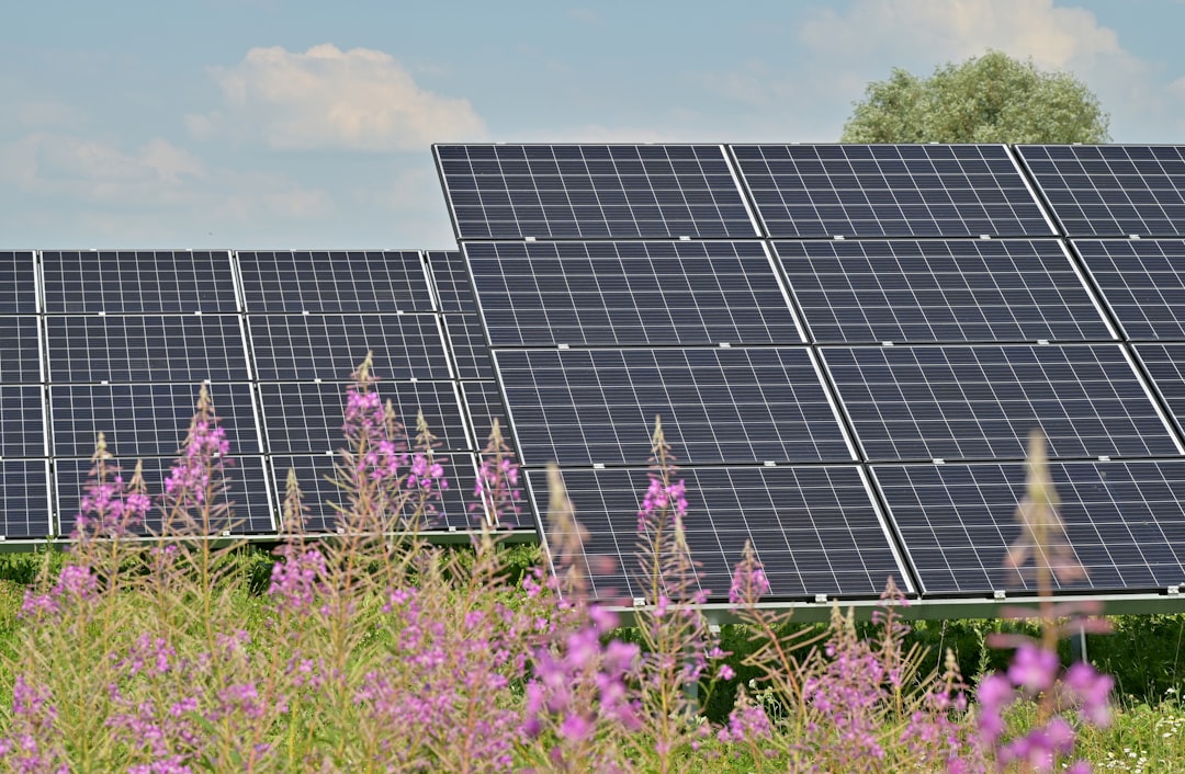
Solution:
<path fill-rule="evenodd" d="M 160 491 L 198 383 L 236 458 L 235 534 L 278 528 L 289 467 L 332 530 L 327 476 L 345 444 L 351 373 L 415 434 L 423 411 L 451 488 L 438 529 L 472 524 L 476 451 L 500 413 L 457 253 L 19 251 L 0 253 L 2 537 L 69 535 L 100 432 Z M 155 512 L 147 527 L 159 527 Z"/>

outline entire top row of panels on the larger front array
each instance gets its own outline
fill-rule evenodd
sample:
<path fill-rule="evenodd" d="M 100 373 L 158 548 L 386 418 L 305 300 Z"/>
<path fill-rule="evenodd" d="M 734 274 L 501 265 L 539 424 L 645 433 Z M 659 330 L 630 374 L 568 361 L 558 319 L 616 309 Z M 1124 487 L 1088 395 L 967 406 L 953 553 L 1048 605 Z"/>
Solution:
<path fill-rule="evenodd" d="M 1185 236 L 1176 146 L 495 144 L 436 157 L 461 240 Z"/>

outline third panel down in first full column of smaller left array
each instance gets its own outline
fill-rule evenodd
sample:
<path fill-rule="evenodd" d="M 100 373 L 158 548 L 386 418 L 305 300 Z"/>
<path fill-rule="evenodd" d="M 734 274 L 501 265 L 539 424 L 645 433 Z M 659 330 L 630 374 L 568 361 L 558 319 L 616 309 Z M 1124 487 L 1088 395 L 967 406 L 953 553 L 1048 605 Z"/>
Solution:
<path fill-rule="evenodd" d="M 251 386 L 207 386 L 230 441 L 230 453 L 260 453 Z M 98 433 L 117 458 L 172 457 L 185 443 L 197 406 L 197 385 L 50 385 L 55 457 L 95 453 Z"/>

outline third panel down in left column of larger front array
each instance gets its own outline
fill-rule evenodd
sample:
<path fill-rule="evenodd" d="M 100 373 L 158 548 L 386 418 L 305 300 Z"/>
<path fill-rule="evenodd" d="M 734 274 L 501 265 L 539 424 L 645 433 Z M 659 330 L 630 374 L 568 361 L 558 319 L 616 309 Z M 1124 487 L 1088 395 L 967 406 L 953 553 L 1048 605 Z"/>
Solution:
<path fill-rule="evenodd" d="M 500 349 L 526 465 L 645 465 L 654 418 L 686 463 L 845 462 L 806 348 Z"/>

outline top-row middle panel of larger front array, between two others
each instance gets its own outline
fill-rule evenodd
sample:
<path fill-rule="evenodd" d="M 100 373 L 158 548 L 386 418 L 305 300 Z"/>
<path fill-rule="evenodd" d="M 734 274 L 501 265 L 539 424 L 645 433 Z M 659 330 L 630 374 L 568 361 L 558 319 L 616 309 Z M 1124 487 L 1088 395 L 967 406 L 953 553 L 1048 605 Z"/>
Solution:
<path fill-rule="evenodd" d="M 730 148 L 773 238 L 1055 233 L 1004 146 Z"/>

